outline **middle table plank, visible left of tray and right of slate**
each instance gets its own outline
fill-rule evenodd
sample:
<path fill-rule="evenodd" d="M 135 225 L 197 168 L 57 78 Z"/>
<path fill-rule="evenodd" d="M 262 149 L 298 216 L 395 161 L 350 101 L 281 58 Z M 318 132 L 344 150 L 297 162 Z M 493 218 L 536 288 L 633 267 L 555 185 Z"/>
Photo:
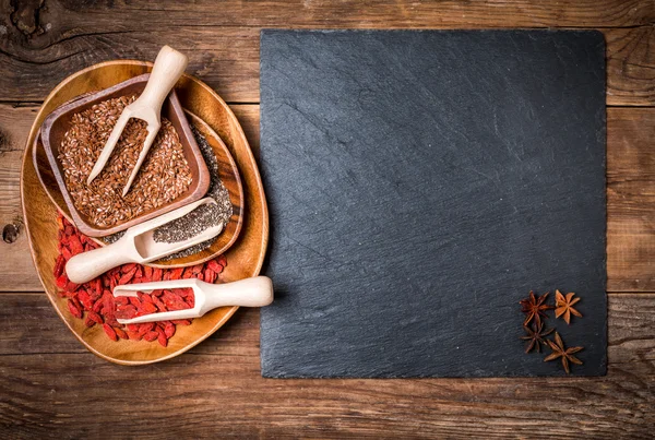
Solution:
<path fill-rule="evenodd" d="M 259 106 L 233 105 L 255 156 Z M 21 218 L 20 166 L 36 106 L 0 105 L 0 228 Z M 607 110 L 608 292 L 655 290 L 655 108 Z M 40 292 L 24 229 L 0 241 L 0 292 Z"/>

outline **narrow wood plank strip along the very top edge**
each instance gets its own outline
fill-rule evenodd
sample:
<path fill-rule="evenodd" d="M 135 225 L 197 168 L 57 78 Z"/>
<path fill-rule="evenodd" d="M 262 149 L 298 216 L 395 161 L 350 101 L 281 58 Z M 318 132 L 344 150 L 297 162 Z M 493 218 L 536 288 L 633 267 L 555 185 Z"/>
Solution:
<path fill-rule="evenodd" d="M 29 1 L 20 1 L 27 3 Z M 196 25 L 214 26 L 308 26 L 321 24 L 341 27 L 466 27 L 484 23 L 490 27 L 624 27 L 652 24 L 655 3 L 652 0 L 497 0 L 493 2 L 467 2 L 457 0 L 407 1 L 407 0 L 254 0 L 225 2 L 216 8 L 211 0 L 195 1 L 193 7 L 175 1 L 148 0 L 130 2 L 46 1 L 40 13 L 50 16 L 66 14 L 72 21 L 111 11 L 111 20 L 121 27 L 138 27 L 131 19 L 134 14 L 148 14 L 154 25 L 184 25 L 194 19 Z M 43 22 L 43 19 L 40 20 Z"/>

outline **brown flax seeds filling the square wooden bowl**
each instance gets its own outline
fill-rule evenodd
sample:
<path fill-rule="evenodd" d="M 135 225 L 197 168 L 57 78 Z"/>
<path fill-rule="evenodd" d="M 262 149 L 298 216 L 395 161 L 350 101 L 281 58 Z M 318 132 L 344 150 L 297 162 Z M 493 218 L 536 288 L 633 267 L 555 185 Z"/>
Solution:
<path fill-rule="evenodd" d="M 186 192 L 192 181 L 178 133 L 168 119 L 162 118 L 157 138 L 124 198 L 122 189 L 145 141 L 146 124 L 142 120 L 130 119 L 107 166 L 86 185 L 118 117 L 134 99 L 136 96 L 121 96 L 73 115 L 72 127 L 59 146 L 58 158 L 73 203 L 96 226 L 115 226 L 167 204 Z"/>

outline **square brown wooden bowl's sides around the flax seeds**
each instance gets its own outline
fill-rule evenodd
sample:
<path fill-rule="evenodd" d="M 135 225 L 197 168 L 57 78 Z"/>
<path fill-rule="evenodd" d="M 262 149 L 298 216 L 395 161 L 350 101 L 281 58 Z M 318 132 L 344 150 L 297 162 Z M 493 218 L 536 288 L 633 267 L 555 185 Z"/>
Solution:
<path fill-rule="evenodd" d="M 84 111 L 103 100 L 117 98 L 124 95 L 140 95 L 145 88 L 148 78 L 150 73 L 146 73 L 132 78 L 128 81 L 123 81 L 122 83 L 116 84 L 109 88 L 105 88 L 104 91 L 90 95 L 82 95 L 81 97 L 69 102 L 61 107 L 58 107 L 46 118 L 44 124 L 41 126 L 40 134 L 44 150 L 48 157 L 48 162 L 50 163 L 50 167 L 52 168 L 52 174 L 55 175 L 57 185 L 59 186 L 66 204 L 69 207 L 75 226 L 78 226 L 80 231 L 90 237 L 103 237 L 110 234 L 116 234 L 120 230 L 124 230 L 129 227 L 138 225 L 139 223 L 200 200 L 207 192 L 210 187 L 210 171 L 202 157 L 202 153 L 195 143 L 193 133 L 189 128 L 189 122 L 187 121 L 182 106 L 180 105 L 175 90 L 172 90 L 164 103 L 162 116 L 170 120 L 179 135 L 180 143 L 182 144 L 184 157 L 191 169 L 192 181 L 189 186 L 189 189 L 180 197 L 165 205 L 146 211 L 136 217 L 111 227 L 102 227 L 93 224 L 88 217 L 86 217 L 75 207 L 73 199 L 66 187 L 63 168 L 57 158 L 59 145 L 63 140 L 63 135 L 71 128 L 72 116 L 76 112 Z"/>

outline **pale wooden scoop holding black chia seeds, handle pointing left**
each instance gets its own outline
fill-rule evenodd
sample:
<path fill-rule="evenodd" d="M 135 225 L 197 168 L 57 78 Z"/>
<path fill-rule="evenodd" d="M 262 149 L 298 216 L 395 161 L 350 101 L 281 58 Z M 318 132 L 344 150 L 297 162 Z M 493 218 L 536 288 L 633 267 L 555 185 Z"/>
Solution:
<path fill-rule="evenodd" d="M 204 198 L 175 211 L 160 215 L 151 221 L 141 223 L 126 230 L 126 234 L 116 242 L 104 248 L 83 252 L 71 258 L 66 264 L 66 273 L 75 284 L 86 283 L 96 276 L 126 263 L 148 263 L 175 252 L 179 252 L 194 245 L 216 237 L 223 230 L 219 223 L 210 226 L 198 234 L 180 234 L 168 239 L 157 239 L 157 228 L 183 217 L 195 209 L 207 204 L 215 204 L 212 198 Z"/>

